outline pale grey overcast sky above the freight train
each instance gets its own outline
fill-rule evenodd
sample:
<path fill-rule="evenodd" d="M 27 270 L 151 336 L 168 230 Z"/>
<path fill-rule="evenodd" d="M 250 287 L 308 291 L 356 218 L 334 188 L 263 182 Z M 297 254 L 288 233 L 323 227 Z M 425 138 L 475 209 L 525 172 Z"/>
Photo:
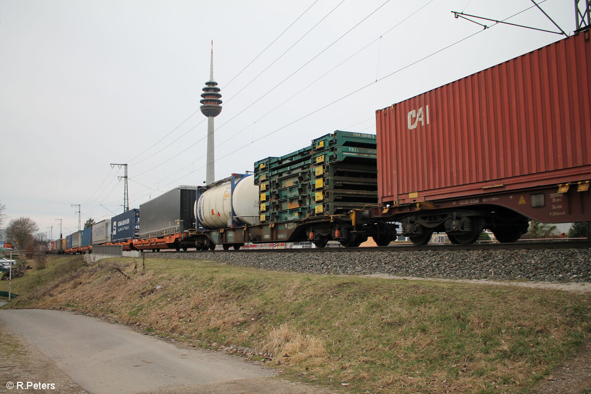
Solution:
<path fill-rule="evenodd" d="M 573 3 L 541 7 L 571 34 Z M 41 232 L 53 226 L 56 239 L 55 219 L 64 237 L 78 228 L 70 204 L 82 205 L 82 223 L 121 213 L 124 173 L 110 163 L 129 164 L 131 208 L 202 184 L 207 122 L 199 100 L 212 40 L 223 100 L 215 119 L 221 179 L 337 129 L 375 133 L 376 109 L 560 40 L 509 25 L 483 30 L 450 12 L 503 20 L 526 10 L 507 21 L 558 31 L 532 6 L 0 0 L 3 227 L 31 217 Z"/>

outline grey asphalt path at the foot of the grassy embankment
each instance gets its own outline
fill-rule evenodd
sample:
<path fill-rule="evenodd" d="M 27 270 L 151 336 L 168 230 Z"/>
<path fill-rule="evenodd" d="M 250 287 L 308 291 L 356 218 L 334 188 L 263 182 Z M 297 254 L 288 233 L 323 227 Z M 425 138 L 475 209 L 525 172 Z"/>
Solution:
<path fill-rule="evenodd" d="M 93 394 L 301 392 L 269 379 L 272 370 L 215 351 L 185 349 L 98 318 L 0 310 L 0 321 Z"/>

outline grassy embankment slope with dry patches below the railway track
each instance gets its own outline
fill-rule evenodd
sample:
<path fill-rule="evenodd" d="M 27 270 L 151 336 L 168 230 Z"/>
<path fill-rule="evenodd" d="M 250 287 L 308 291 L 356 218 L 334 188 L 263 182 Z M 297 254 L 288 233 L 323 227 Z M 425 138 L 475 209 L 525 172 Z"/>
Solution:
<path fill-rule="evenodd" d="M 591 332 L 589 295 L 203 261 L 137 265 L 54 258 L 12 282 L 21 297 L 11 306 L 69 308 L 190 344 L 251 347 L 272 353 L 269 366 L 285 375 L 371 393 L 527 392 Z"/>

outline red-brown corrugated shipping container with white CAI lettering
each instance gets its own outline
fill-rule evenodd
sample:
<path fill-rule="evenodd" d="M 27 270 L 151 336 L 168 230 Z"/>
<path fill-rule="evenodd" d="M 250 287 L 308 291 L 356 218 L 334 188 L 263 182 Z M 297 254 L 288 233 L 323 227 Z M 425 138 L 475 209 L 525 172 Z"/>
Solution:
<path fill-rule="evenodd" d="M 376 111 L 380 203 L 589 180 L 589 35 Z"/>

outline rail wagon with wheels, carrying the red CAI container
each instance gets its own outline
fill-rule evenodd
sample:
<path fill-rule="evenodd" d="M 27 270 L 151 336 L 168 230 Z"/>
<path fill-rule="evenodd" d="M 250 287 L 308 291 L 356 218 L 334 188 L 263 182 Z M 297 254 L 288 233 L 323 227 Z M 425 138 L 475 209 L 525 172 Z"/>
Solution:
<path fill-rule="evenodd" d="M 379 203 L 402 235 L 591 220 L 589 30 L 378 110 Z"/>

